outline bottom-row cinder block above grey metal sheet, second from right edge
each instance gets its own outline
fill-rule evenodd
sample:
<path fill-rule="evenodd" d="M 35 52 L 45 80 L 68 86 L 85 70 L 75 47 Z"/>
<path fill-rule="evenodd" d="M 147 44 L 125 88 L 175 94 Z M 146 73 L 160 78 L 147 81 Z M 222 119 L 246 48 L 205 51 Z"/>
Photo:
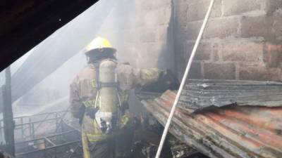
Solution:
<path fill-rule="evenodd" d="M 235 79 L 235 65 L 226 63 L 205 63 L 204 79 Z"/>

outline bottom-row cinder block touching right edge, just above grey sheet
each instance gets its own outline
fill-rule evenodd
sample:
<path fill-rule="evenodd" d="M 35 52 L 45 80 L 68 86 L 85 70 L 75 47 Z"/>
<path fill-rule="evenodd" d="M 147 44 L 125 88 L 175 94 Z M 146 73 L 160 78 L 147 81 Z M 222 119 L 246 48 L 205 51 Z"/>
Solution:
<path fill-rule="evenodd" d="M 279 81 L 281 70 L 264 65 L 240 65 L 239 79 L 255 81 Z"/>

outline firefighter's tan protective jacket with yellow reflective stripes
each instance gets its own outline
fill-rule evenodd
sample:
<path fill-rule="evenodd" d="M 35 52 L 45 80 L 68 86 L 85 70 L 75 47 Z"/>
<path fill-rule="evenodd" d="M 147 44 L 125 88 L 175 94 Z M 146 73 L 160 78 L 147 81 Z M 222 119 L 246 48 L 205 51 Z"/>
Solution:
<path fill-rule="evenodd" d="M 75 77 L 71 84 L 70 96 L 71 113 L 73 117 L 84 118 L 82 121 L 82 137 L 85 136 L 89 142 L 98 142 L 114 136 L 115 133 L 122 131 L 129 121 L 126 115 L 121 117 L 120 126 L 113 134 L 109 135 L 102 132 L 97 121 L 84 114 L 85 107 L 94 106 L 97 95 L 95 69 L 94 64 L 90 64 Z M 116 74 L 121 103 L 124 104 L 128 102 L 129 93 L 132 88 L 146 86 L 156 82 L 159 79 L 161 70 L 155 68 L 144 70 L 135 69 L 128 64 L 118 63 Z"/>

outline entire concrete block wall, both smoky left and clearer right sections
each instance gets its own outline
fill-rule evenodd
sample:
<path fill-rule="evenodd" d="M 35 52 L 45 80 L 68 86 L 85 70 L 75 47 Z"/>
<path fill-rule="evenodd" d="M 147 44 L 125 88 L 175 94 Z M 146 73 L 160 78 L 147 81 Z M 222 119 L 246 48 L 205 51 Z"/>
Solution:
<path fill-rule="evenodd" d="M 209 0 L 121 0 L 99 31 L 118 59 L 181 78 Z M 281 0 L 216 0 L 190 77 L 281 81 Z"/>

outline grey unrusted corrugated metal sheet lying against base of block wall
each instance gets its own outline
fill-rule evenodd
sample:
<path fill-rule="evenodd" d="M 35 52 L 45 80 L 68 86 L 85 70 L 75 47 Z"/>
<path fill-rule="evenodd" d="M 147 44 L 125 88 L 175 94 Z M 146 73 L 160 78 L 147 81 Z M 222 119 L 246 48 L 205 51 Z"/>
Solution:
<path fill-rule="evenodd" d="M 180 97 L 189 112 L 225 105 L 282 106 L 282 83 L 274 81 L 189 80 Z"/>

